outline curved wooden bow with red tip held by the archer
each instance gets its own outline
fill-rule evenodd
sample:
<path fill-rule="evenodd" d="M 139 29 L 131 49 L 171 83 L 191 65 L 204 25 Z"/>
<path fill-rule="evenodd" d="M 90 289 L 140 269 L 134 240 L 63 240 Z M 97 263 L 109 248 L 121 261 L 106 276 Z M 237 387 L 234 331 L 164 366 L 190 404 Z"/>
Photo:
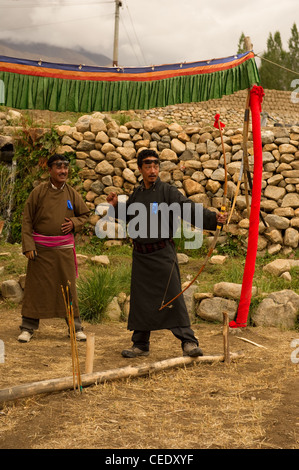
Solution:
<path fill-rule="evenodd" d="M 225 172 L 225 180 L 224 180 L 224 188 L 223 188 L 223 200 L 222 200 L 222 204 L 221 204 L 221 209 L 220 209 L 220 212 L 223 214 L 225 211 L 226 211 L 226 198 L 227 198 L 227 165 L 226 165 L 226 154 L 225 154 L 225 147 L 224 147 L 224 141 L 223 141 L 223 135 L 222 135 L 222 128 L 224 127 L 224 124 L 222 122 L 220 122 L 219 120 L 220 118 L 220 115 L 219 114 L 216 114 L 215 116 L 215 123 L 214 123 L 214 127 L 218 128 L 219 129 L 219 132 L 220 132 L 220 137 L 221 137 L 221 145 L 222 145 L 222 151 L 223 151 L 223 159 L 224 159 L 224 172 Z M 216 243 L 217 243 L 217 240 L 218 240 L 218 237 L 220 235 L 220 232 L 221 232 L 221 229 L 222 229 L 222 225 L 221 224 L 218 224 L 217 227 L 216 227 L 216 232 L 215 232 L 215 235 L 214 235 L 214 238 L 213 238 L 213 241 L 210 245 L 210 248 L 209 248 L 209 251 L 204 259 L 204 262 L 202 264 L 202 266 L 200 267 L 198 273 L 196 274 L 196 276 L 194 276 L 194 278 L 192 279 L 192 281 L 189 282 L 189 284 L 183 289 L 181 290 L 181 292 L 179 292 L 175 297 L 173 297 L 173 299 L 169 300 L 166 304 L 164 304 L 164 299 L 162 300 L 162 304 L 161 304 L 161 307 L 159 308 L 159 311 L 160 310 L 163 310 L 164 308 L 170 306 L 171 308 L 171 305 L 172 302 L 174 302 L 178 297 L 180 297 L 184 292 L 186 292 L 187 289 L 189 289 L 190 286 L 192 286 L 192 284 L 196 281 L 196 279 L 198 278 L 198 276 L 202 273 L 202 271 L 204 270 L 205 266 L 207 265 L 210 257 L 212 256 L 212 253 L 215 249 L 215 246 L 216 246 Z M 172 274 L 172 271 L 171 271 L 171 274 Z M 170 276 L 171 276 L 170 274 Z M 170 279 L 169 279 L 170 281 Z M 168 281 L 168 285 L 169 285 L 169 281 Z M 168 288 L 168 285 L 167 285 L 167 288 Z M 164 298 L 165 298 L 165 295 L 164 295 Z"/>

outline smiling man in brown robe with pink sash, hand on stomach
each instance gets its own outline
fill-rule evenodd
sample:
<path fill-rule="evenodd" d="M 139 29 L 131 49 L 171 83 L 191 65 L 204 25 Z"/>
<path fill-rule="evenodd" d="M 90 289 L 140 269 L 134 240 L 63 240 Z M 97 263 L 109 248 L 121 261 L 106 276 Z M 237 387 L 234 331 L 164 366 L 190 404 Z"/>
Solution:
<path fill-rule="evenodd" d="M 74 232 L 88 219 L 89 209 L 66 181 L 69 161 L 61 155 L 48 160 L 50 180 L 29 195 L 22 223 L 22 251 L 28 258 L 22 306 L 20 342 L 30 341 L 44 318 L 66 318 L 61 286 L 70 282 L 77 339 L 86 339 L 76 290 Z"/>

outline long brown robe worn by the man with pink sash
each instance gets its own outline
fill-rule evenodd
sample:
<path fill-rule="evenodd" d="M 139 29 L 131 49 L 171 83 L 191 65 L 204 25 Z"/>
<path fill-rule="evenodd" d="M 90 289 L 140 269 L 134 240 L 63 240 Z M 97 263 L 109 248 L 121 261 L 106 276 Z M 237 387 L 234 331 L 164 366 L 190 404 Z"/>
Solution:
<path fill-rule="evenodd" d="M 22 251 L 37 251 L 28 261 L 22 316 L 35 319 L 66 316 L 61 286 L 71 283 L 74 316 L 79 316 L 76 290 L 75 250 L 72 246 L 44 246 L 34 233 L 62 236 L 61 225 L 69 218 L 78 232 L 87 221 L 89 209 L 70 185 L 54 189 L 50 182 L 30 194 L 23 213 Z M 69 238 L 69 237 L 68 237 Z"/>

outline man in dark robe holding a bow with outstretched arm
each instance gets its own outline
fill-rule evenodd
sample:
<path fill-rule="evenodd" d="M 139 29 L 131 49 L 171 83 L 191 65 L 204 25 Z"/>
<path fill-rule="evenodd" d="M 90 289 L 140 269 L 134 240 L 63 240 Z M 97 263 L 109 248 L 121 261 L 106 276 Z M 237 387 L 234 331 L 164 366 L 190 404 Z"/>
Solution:
<path fill-rule="evenodd" d="M 179 296 L 170 307 L 161 308 L 161 302 L 174 298 L 181 290 L 181 279 L 177 262 L 176 251 L 173 242 L 175 220 L 167 219 L 168 233 L 163 233 L 162 220 L 157 222 L 157 231 L 153 231 L 151 214 L 158 212 L 163 203 L 170 207 L 177 204 L 183 214 L 183 206 L 187 205 L 191 214 L 190 222 L 196 225 L 196 213 L 201 212 L 205 230 L 216 230 L 218 224 L 226 221 L 227 214 L 202 208 L 201 204 L 195 204 L 185 197 L 177 188 L 168 183 L 161 182 L 159 178 L 159 157 L 154 150 L 142 150 L 137 159 L 138 168 L 142 174 L 142 184 L 135 189 L 125 203 L 125 209 L 118 203 L 115 193 L 107 197 L 114 209 L 110 207 L 108 215 L 115 218 L 123 218 L 126 222 L 132 222 L 132 208 L 140 204 L 139 210 L 145 208 L 145 216 L 140 220 L 139 232 L 133 238 L 133 263 L 131 278 L 130 312 L 128 329 L 133 330 L 131 348 L 122 351 L 123 357 L 145 356 L 149 354 L 149 340 L 152 330 L 169 329 L 181 341 L 183 354 L 188 356 L 201 356 L 202 350 L 198 346 L 198 340 L 190 328 L 190 319 L 183 296 Z M 136 204 L 134 206 L 134 204 Z M 142 205 L 142 206 L 141 206 Z M 199 207 L 200 206 L 200 207 Z M 137 224 L 138 225 L 138 224 Z M 143 226 L 145 229 L 143 230 Z M 165 218 L 164 218 L 165 225 Z M 200 224 L 199 224 L 200 225 Z M 165 227 L 164 227 L 165 229 Z M 167 286 L 167 287 L 166 287 Z M 167 290 L 167 298 L 164 299 Z"/>

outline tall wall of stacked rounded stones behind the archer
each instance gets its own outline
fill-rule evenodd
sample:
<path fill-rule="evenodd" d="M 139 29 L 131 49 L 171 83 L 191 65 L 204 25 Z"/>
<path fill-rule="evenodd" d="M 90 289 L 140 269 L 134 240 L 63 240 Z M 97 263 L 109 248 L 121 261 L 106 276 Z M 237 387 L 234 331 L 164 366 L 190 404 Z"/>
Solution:
<path fill-rule="evenodd" d="M 92 211 L 111 191 L 130 194 L 139 184 L 137 154 L 143 148 L 160 155 L 160 178 L 205 207 L 219 209 L 224 168 L 219 131 L 212 126 L 181 126 L 157 119 L 132 120 L 118 125 L 100 113 L 82 116 L 75 126 L 59 126 L 59 153 L 75 151 L 86 201 Z M 242 128 L 224 129 L 228 169 L 228 198 L 237 187 L 242 160 Z M 261 209 L 268 225 L 260 223 L 259 250 L 288 253 L 299 244 L 299 127 L 263 128 Z M 249 163 L 253 169 L 253 143 L 249 135 Z M 231 223 L 225 230 L 247 237 L 243 183 Z M 90 222 L 99 216 L 94 212 Z"/>

